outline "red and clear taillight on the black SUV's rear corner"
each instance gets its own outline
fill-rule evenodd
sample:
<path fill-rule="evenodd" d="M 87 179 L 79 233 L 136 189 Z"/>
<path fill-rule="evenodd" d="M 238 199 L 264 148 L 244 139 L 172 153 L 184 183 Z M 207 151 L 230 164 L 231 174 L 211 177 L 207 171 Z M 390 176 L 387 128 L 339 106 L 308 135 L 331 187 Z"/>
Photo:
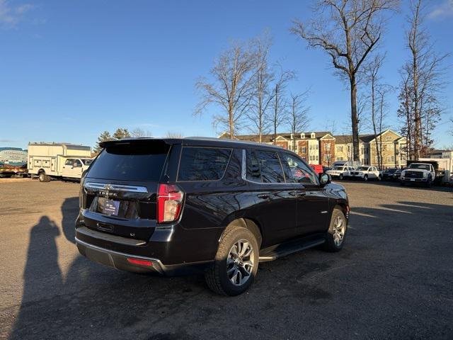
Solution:
<path fill-rule="evenodd" d="M 174 184 L 159 184 L 157 190 L 157 222 L 178 220 L 183 208 L 184 193 Z"/>

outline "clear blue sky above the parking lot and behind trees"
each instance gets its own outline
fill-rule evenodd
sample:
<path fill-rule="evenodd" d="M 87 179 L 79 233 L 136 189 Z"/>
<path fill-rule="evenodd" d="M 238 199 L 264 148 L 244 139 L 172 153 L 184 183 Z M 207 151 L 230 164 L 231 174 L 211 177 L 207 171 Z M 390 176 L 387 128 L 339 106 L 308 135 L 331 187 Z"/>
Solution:
<path fill-rule="evenodd" d="M 231 39 L 268 30 L 271 57 L 297 72 L 289 89 L 310 89 L 311 130 L 336 121 L 347 131 L 349 96 L 328 57 L 307 50 L 289 33 L 294 18 L 309 18 L 309 1 L 14 1 L 0 0 L 0 146 L 54 141 L 95 145 L 103 130 L 124 126 L 215 136 L 210 113 L 193 116 L 194 88 Z M 406 2 L 403 2 L 406 5 Z M 383 77 L 398 85 L 404 48 L 404 11 L 382 41 Z M 453 3 L 429 1 L 427 28 L 438 52 L 452 52 Z M 452 64 L 452 57 L 448 60 Z M 446 112 L 437 147 L 453 145 L 453 69 L 443 91 Z M 397 93 L 388 124 L 396 130 Z"/>

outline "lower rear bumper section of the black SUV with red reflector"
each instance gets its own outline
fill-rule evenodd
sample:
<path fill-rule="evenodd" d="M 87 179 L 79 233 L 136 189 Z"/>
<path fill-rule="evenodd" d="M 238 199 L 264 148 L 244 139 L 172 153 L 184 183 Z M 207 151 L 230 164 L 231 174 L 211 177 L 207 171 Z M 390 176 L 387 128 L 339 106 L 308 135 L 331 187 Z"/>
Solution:
<path fill-rule="evenodd" d="M 178 276 L 190 273 L 202 273 L 212 261 L 180 263 L 165 266 L 159 259 L 146 256 L 125 254 L 119 251 L 101 248 L 81 241 L 76 237 L 76 246 L 80 254 L 91 261 L 101 263 L 122 271 L 135 273 L 155 273 L 163 276 Z M 135 261 L 134 261 L 135 260 Z M 139 263 L 137 263 L 137 260 Z M 134 263 L 135 262 L 135 263 Z"/>

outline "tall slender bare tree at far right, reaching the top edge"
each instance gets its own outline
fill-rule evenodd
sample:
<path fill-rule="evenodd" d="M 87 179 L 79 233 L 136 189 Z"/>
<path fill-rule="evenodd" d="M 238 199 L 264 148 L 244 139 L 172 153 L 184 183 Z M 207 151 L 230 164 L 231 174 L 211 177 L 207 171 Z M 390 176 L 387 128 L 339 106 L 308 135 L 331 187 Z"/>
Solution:
<path fill-rule="evenodd" d="M 442 104 L 439 93 L 445 69 L 442 67 L 447 54 L 435 52 L 430 36 L 423 22 L 424 7 L 422 0 L 411 0 L 411 15 L 408 17 L 406 41 L 411 57 L 403 65 L 403 86 L 400 89 L 400 110 L 406 113 L 405 132 L 410 135 L 409 155 L 419 159 L 432 145 L 432 130 L 440 121 Z"/>

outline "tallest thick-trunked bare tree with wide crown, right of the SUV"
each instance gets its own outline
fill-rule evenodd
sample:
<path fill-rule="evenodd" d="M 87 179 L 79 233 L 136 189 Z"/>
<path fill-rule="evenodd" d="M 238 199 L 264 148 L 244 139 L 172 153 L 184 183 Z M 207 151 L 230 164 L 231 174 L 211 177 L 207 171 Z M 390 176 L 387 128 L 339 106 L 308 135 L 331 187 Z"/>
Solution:
<path fill-rule="evenodd" d="M 315 18 L 308 25 L 295 21 L 292 33 L 309 47 L 321 48 L 332 58 L 333 67 L 350 86 L 352 145 L 354 160 L 360 160 L 357 82 L 360 67 L 379 42 L 384 12 L 397 8 L 399 0 L 319 0 Z"/>

